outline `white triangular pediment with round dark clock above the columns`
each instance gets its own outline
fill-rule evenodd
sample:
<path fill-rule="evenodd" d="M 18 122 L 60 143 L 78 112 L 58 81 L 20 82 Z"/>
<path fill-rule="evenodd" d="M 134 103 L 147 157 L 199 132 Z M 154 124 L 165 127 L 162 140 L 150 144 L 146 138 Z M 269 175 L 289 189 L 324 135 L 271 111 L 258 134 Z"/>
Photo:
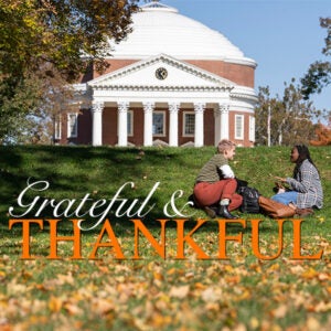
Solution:
<path fill-rule="evenodd" d="M 162 88 L 231 90 L 235 83 L 166 54 L 149 57 L 88 83 L 93 88 Z"/>

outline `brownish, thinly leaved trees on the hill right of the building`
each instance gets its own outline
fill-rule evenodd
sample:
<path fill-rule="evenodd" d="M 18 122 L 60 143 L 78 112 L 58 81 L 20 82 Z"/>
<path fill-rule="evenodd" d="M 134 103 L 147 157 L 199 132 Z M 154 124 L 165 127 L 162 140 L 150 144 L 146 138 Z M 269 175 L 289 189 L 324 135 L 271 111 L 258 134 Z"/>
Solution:
<path fill-rule="evenodd" d="M 308 143 L 314 135 L 313 121 L 322 114 L 303 99 L 295 79 L 285 86 L 282 97 L 270 97 L 269 87 L 259 87 L 256 114 L 256 143 Z"/>

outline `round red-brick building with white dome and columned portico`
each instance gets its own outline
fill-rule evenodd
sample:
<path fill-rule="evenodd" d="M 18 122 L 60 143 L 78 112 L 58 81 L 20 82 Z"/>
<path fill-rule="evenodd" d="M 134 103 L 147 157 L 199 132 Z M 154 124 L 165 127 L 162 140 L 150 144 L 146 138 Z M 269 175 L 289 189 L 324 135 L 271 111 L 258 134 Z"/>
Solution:
<path fill-rule="evenodd" d="M 108 70 L 75 86 L 88 106 L 57 126 L 60 143 L 254 146 L 256 62 L 220 32 L 151 1 L 109 50 Z"/>

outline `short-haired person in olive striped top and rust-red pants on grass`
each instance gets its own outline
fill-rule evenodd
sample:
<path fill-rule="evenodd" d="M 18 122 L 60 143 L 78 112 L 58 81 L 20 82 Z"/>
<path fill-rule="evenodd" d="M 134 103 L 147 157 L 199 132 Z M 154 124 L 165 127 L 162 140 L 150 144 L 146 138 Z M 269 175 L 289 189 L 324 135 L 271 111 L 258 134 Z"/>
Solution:
<path fill-rule="evenodd" d="M 229 140 L 221 140 L 217 153 L 213 156 L 201 169 L 193 190 L 197 205 L 209 216 L 216 215 L 224 218 L 237 218 L 229 212 L 237 209 L 243 197 L 236 194 L 237 181 L 228 160 L 235 156 L 235 143 Z M 215 210 L 212 207 L 216 205 Z"/>

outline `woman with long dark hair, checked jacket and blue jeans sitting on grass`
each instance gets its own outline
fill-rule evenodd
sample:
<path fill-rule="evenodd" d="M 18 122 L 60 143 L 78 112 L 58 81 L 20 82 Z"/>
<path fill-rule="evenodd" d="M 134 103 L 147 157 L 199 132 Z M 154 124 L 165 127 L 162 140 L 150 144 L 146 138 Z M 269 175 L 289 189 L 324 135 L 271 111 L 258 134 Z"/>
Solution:
<path fill-rule="evenodd" d="M 285 190 L 278 184 L 280 190 L 271 199 L 296 209 L 298 214 L 309 214 L 313 212 L 312 209 L 321 209 L 323 206 L 321 179 L 307 146 L 296 145 L 291 150 L 290 161 L 296 163 L 293 178 L 276 177 L 280 183 L 287 183 L 289 189 Z"/>

